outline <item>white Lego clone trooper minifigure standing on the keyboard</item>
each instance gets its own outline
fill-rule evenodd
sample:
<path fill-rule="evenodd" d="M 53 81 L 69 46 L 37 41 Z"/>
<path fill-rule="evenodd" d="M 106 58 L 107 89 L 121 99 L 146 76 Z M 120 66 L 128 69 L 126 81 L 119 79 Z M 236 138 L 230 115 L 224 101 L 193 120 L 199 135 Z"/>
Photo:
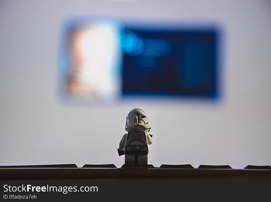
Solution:
<path fill-rule="evenodd" d="M 148 165 L 148 145 L 152 144 L 151 126 L 142 109 L 132 109 L 126 117 L 125 130 L 119 143 L 119 156 L 125 154 L 125 165 Z"/>

